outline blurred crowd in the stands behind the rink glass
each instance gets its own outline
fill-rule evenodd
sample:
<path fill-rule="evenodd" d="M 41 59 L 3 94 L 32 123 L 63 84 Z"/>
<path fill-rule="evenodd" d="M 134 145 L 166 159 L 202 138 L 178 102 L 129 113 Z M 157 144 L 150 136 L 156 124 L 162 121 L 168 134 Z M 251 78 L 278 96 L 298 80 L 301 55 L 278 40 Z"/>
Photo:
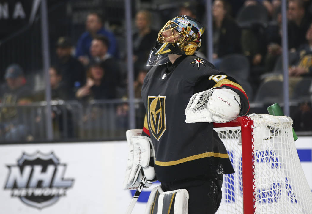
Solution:
<path fill-rule="evenodd" d="M 47 141 L 40 6 L 34 12 L 38 2 L 0 1 L 1 142 Z M 129 84 L 134 86 L 135 128 L 142 128 L 140 90 L 159 29 L 177 15 L 207 26 L 204 0 L 132 0 L 130 32 L 124 0 L 46 2 L 53 141 L 125 139 L 131 122 Z M 276 102 L 283 106 L 281 17 L 281 0 L 212 1 L 212 63 L 242 85 L 249 113 L 267 114 Z M 290 116 L 299 135 L 312 135 L 311 21 L 311 0 L 287 1 Z M 129 34 L 132 59 L 127 58 Z M 204 58 L 206 34 L 196 53 Z"/>

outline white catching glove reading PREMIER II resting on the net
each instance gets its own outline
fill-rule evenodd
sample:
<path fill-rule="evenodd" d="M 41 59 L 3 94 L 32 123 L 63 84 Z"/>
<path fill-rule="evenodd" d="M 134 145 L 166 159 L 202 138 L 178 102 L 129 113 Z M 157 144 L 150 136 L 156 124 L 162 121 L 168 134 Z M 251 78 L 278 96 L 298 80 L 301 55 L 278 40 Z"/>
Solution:
<path fill-rule="evenodd" d="M 194 94 L 185 109 L 186 123 L 226 123 L 236 119 L 241 99 L 233 90 L 216 87 Z"/>

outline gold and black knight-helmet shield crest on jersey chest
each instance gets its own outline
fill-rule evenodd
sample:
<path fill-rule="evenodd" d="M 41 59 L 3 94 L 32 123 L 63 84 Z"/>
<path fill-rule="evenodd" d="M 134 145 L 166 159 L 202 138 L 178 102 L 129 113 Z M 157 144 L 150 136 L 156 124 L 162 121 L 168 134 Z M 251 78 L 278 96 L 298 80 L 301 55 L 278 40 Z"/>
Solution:
<path fill-rule="evenodd" d="M 148 117 L 150 132 L 159 140 L 166 130 L 165 115 L 165 98 L 166 96 L 149 96 L 148 97 Z"/>

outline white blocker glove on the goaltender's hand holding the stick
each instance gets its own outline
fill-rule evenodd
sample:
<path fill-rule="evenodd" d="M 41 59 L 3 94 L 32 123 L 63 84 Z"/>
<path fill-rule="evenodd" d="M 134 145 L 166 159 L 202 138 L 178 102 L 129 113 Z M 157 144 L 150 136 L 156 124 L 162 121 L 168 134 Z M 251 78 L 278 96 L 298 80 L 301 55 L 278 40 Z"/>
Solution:
<path fill-rule="evenodd" d="M 123 184 L 125 190 L 136 189 L 144 175 L 148 181 L 156 177 L 152 140 L 141 134 L 142 129 L 130 129 L 126 132 L 129 156 Z M 146 182 L 145 187 L 151 184 L 151 182 Z"/>

